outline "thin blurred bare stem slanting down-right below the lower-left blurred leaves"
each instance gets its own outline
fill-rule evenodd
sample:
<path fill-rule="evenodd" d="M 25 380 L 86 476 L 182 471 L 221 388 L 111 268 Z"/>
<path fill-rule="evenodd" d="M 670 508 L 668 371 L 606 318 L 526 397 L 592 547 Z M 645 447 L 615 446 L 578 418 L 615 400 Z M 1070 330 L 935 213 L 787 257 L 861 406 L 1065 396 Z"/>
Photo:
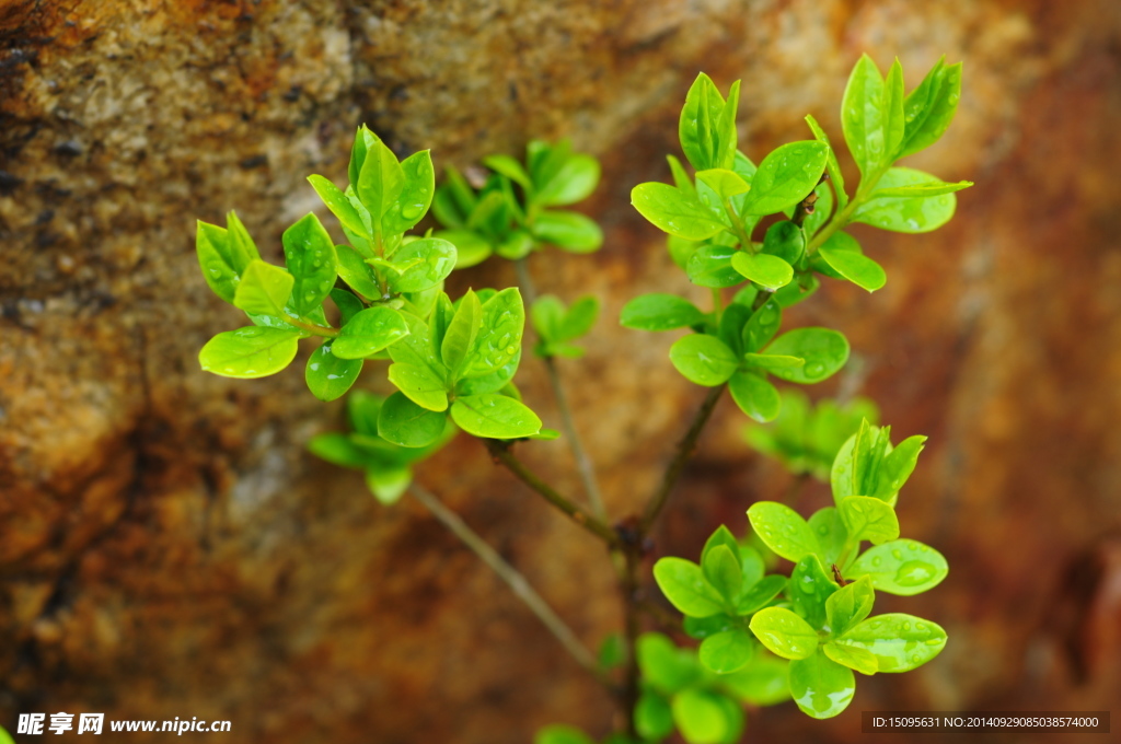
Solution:
<path fill-rule="evenodd" d="M 479 533 L 472 530 L 458 514 L 445 506 L 444 502 L 437 499 L 435 494 L 416 483 L 409 486 L 409 493 L 424 504 L 455 537 L 460 538 L 463 545 L 467 546 L 472 552 L 479 556 L 480 560 L 498 574 L 499 578 L 509 585 L 515 596 L 521 599 L 529 607 L 530 612 L 537 615 L 541 624 L 553 633 L 554 638 L 560 642 L 560 645 L 576 660 L 576 663 L 603 681 L 603 675 L 592 652 L 581 643 L 576 634 L 572 632 L 572 629 L 560 620 L 559 615 L 553 611 L 553 607 L 541 598 L 541 595 L 537 594 L 518 569 L 503 560 L 502 556 L 498 555 L 485 540 L 479 537 Z"/>

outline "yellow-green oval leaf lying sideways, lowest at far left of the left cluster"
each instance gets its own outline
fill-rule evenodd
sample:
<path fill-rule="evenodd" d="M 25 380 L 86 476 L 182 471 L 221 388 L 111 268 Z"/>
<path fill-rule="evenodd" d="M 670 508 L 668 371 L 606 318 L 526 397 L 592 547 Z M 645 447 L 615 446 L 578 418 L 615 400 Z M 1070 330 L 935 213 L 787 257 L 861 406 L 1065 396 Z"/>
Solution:
<path fill-rule="evenodd" d="M 226 331 L 206 342 L 198 364 L 223 378 L 263 378 L 288 366 L 306 336 L 303 331 L 262 326 Z"/>

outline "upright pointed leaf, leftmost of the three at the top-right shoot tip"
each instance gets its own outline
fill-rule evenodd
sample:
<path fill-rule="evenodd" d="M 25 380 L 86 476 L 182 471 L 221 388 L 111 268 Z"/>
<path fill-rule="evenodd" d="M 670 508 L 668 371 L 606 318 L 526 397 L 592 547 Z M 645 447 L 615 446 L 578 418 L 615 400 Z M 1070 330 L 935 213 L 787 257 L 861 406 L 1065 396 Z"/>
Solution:
<path fill-rule="evenodd" d="M 895 103 L 893 97 L 891 102 Z M 902 101 L 899 101 L 899 105 L 902 106 Z M 888 151 L 884 128 L 888 120 L 895 121 L 895 115 L 886 106 L 883 76 L 865 54 L 852 68 L 841 101 L 841 129 L 849 150 L 865 178 L 879 173 L 888 165 L 892 155 Z"/>

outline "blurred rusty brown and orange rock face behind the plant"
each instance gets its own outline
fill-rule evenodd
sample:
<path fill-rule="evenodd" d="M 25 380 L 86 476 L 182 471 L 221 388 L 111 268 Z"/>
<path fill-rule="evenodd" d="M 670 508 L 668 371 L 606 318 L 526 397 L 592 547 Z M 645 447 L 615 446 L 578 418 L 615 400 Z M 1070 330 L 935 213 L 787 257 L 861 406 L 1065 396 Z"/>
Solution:
<path fill-rule="evenodd" d="M 247 743 L 608 731 L 595 685 L 471 554 L 418 505 L 383 509 L 304 452 L 341 422 L 304 389 L 309 348 L 262 381 L 198 371 L 239 313 L 203 282 L 194 221 L 235 208 L 278 260 L 288 224 L 325 214 L 305 176 L 341 180 L 360 122 L 400 154 L 432 148 L 437 168 L 520 155 L 530 137 L 602 158 L 582 208 L 604 249 L 532 267 L 543 290 L 604 301 L 564 371 L 623 514 L 703 397 L 666 360 L 669 335 L 615 323 L 637 294 L 688 290 L 630 188 L 667 178 L 698 71 L 722 89 L 744 78 L 741 147 L 758 159 L 808 138 L 806 113 L 841 139 L 862 52 L 884 68 L 898 55 L 908 86 L 942 54 L 964 59 L 956 121 L 911 165 L 978 185 L 936 233 L 862 232 L 887 288 L 827 285 L 790 322 L 844 331 L 884 420 L 930 436 L 900 515 L 952 573 L 878 610 L 927 615 L 951 643 L 919 672 L 862 678 L 837 719 L 751 712 L 745 741 L 860 741 L 860 710 L 1115 705 L 1118 3 L 0 0 L 0 722 L 198 716 Z M 513 281 L 492 261 L 452 288 Z M 555 419 L 540 366 L 519 381 Z M 360 384 L 377 388 L 376 371 Z M 743 420 L 725 400 L 659 554 L 693 555 L 722 521 L 741 532 L 747 506 L 786 487 L 742 444 Z M 563 443 L 522 454 L 577 491 Z M 476 443 L 420 480 L 589 644 L 615 626 L 599 546 Z"/>

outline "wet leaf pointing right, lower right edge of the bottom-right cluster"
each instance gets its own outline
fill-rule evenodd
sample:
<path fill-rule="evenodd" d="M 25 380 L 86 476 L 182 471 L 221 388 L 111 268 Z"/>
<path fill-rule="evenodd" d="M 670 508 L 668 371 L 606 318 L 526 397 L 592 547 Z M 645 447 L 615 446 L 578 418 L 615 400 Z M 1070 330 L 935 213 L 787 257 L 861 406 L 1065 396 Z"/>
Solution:
<path fill-rule="evenodd" d="M 872 652 L 879 671 L 900 672 L 938 655 L 946 645 L 946 631 L 921 617 L 890 613 L 869 617 L 835 641 Z"/>

